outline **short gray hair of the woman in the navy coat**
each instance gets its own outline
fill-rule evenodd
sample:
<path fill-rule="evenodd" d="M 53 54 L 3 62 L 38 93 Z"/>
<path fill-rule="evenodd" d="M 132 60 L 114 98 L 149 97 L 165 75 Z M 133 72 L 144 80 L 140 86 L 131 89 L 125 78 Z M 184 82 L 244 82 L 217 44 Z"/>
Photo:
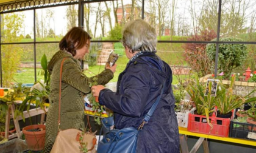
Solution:
<path fill-rule="evenodd" d="M 126 23 L 121 42 L 132 53 L 135 51 L 157 52 L 157 33 L 154 27 L 143 19 L 135 19 Z"/>

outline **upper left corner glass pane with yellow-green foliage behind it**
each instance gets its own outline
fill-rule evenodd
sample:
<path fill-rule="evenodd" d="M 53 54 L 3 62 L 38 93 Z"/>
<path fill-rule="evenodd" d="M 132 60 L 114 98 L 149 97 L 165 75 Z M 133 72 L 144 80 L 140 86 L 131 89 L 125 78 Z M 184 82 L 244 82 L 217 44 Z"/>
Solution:
<path fill-rule="evenodd" d="M 1 42 L 34 41 L 33 10 L 1 15 Z"/>

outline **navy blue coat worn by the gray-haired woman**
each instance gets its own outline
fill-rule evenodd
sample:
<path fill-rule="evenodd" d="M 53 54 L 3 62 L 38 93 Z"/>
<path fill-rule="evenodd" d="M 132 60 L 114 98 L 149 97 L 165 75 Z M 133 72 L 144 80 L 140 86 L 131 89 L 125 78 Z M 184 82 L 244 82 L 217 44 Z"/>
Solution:
<path fill-rule="evenodd" d="M 179 152 L 179 128 L 171 89 L 172 71 L 155 53 L 144 53 L 127 63 L 120 73 L 117 91 L 101 90 L 99 103 L 115 112 L 115 127 L 139 127 L 161 93 L 162 98 L 148 124 L 138 135 L 138 153 Z"/>

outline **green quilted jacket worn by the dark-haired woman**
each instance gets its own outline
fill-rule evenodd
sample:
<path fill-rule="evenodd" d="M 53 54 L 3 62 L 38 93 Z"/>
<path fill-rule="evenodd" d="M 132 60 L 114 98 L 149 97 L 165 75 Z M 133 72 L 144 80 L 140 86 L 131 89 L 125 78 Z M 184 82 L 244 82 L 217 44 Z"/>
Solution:
<path fill-rule="evenodd" d="M 48 64 L 51 73 L 51 92 L 49 94 L 49 110 L 46 118 L 46 140 L 44 151 L 50 152 L 58 133 L 59 116 L 59 83 L 60 64 L 66 58 L 62 70 L 62 92 L 60 107 L 60 129 L 69 128 L 84 129 L 84 95 L 91 92 L 88 78 L 82 73 L 79 61 L 72 55 L 60 50 L 52 56 Z M 113 78 L 113 72 L 109 69 L 98 75 L 98 84 L 107 84 Z"/>

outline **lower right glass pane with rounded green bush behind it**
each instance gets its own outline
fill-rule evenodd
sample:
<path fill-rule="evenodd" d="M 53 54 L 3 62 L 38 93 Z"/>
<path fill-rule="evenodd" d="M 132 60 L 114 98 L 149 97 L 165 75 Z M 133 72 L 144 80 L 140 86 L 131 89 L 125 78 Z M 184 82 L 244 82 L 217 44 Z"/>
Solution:
<path fill-rule="evenodd" d="M 234 73 L 239 73 L 236 81 L 248 81 L 250 74 L 256 71 L 255 61 L 255 44 L 221 44 L 219 47 L 218 75 L 223 72 L 223 79 L 230 80 Z M 247 77 L 246 70 L 251 70 Z"/>

